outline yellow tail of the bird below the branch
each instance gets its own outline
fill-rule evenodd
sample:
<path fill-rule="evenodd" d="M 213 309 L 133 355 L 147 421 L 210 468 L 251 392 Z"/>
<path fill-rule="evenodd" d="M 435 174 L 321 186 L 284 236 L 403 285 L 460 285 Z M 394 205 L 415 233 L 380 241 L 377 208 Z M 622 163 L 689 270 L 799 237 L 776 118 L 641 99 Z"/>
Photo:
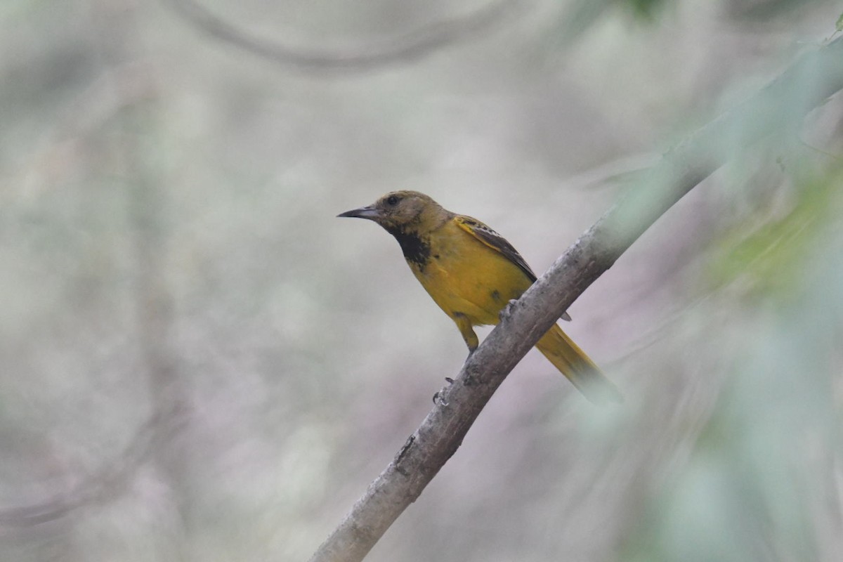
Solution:
<path fill-rule="evenodd" d="M 549 329 L 535 346 L 593 403 L 623 402 L 620 390 L 559 326 Z"/>

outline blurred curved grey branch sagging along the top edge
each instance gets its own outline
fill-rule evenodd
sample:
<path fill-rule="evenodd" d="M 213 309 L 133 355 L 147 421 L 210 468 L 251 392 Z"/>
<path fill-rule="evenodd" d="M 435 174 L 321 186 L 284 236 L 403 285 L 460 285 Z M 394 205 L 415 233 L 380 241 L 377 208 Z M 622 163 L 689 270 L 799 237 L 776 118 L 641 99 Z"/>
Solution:
<path fill-rule="evenodd" d="M 433 52 L 473 39 L 504 20 L 512 21 L 522 0 L 497 0 L 453 19 L 432 24 L 376 44 L 353 49 L 309 49 L 284 45 L 250 34 L 212 13 L 196 0 L 167 0 L 184 19 L 205 34 L 286 67 L 309 71 L 360 71 L 416 61 Z"/>

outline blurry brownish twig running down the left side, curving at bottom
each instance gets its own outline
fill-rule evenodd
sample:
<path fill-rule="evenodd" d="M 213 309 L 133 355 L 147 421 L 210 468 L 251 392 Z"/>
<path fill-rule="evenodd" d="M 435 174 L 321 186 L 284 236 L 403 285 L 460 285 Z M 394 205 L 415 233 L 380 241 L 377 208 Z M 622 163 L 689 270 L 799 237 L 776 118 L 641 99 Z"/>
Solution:
<path fill-rule="evenodd" d="M 135 117 L 145 122 L 142 112 L 156 99 L 156 88 L 147 69 L 137 62 L 132 49 L 132 13 L 109 3 L 96 4 L 105 71 L 68 111 L 51 136 L 88 136 L 116 117 Z M 162 458 L 170 440 L 185 425 L 186 398 L 175 368 L 175 354 L 169 349 L 174 324 L 172 303 L 164 283 L 164 234 L 158 215 L 163 189 L 150 177 L 142 162 L 142 142 L 137 131 L 118 121 L 121 142 L 110 145 L 118 154 L 117 167 L 126 178 L 127 215 L 136 259 L 137 340 L 152 398 L 152 414 L 137 428 L 123 451 L 102 468 L 84 477 L 72 490 L 37 500 L 25 506 L 0 507 L 0 527 L 31 527 L 56 521 L 85 506 L 113 499 L 131 484 L 144 463 L 164 464 Z M 166 468 L 166 467 L 165 467 Z"/>

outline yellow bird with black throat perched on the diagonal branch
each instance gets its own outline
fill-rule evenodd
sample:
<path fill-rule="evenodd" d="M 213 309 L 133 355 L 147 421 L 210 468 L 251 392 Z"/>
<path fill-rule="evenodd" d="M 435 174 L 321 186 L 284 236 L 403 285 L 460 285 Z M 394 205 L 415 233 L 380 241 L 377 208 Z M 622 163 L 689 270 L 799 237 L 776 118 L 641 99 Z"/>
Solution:
<path fill-rule="evenodd" d="M 474 327 L 497 324 L 503 308 L 536 281 L 506 238 L 418 191 L 392 191 L 337 217 L 368 219 L 395 237 L 413 275 L 457 325 L 469 355 L 479 345 Z M 567 313 L 561 318 L 571 319 Z M 535 347 L 590 401 L 622 400 L 615 384 L 558 324 Z"/>

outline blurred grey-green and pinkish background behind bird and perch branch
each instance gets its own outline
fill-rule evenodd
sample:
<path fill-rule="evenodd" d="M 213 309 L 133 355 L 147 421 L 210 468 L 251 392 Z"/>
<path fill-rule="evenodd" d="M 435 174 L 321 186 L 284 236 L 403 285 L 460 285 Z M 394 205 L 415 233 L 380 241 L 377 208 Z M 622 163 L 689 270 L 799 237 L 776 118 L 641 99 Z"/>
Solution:
<path fill-rule="evenodd" d="M 336 214 L 421 190 L 541 273 L 841 9 L 6 0 L 0 559 L 308 559 L 466 353 Z M 626 403 L 531 351 L 369 560 L 843 557 L 843 103 L 795 98 L 573 305 Z"/>

